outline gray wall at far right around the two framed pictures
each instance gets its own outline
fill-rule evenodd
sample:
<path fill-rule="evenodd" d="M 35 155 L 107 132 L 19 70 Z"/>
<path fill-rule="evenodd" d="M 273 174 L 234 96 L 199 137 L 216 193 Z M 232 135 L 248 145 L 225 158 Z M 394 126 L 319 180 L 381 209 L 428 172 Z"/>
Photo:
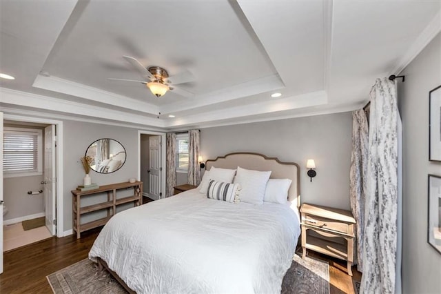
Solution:
<path fill-rule="evenodd" d="M 403 293 L 441 293 L 441 254 L 427 243 L 427 175 L 441 175 L 429 161 L 429 91 L 441 84 L 441 35 L 401 72 L 398 104 L 403 121 Z"/>

